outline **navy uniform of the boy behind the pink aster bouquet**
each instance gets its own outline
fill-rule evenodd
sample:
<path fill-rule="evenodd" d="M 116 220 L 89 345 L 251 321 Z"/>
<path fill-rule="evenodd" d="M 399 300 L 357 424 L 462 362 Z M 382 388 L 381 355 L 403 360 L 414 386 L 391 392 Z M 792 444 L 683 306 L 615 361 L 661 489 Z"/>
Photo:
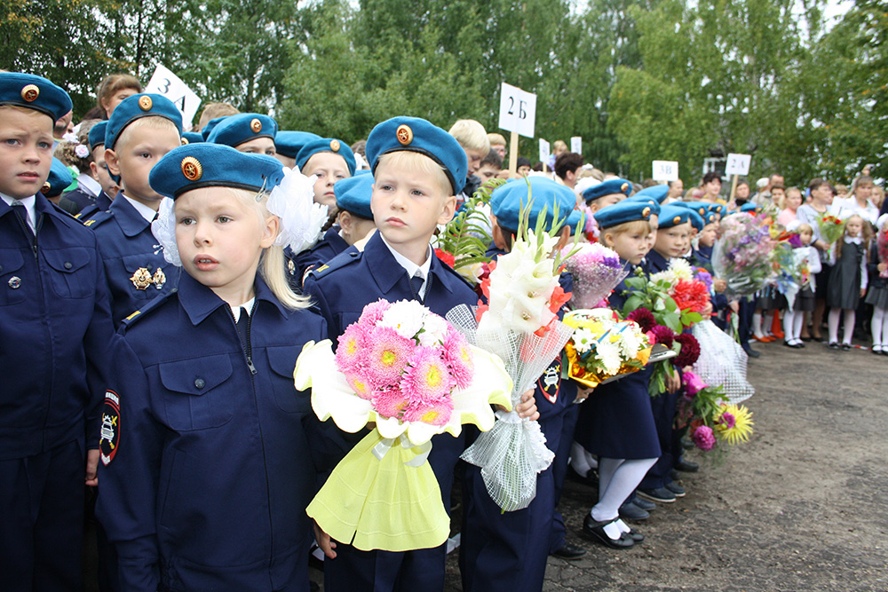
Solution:
<path fill-rule="evenodd" d="M 430 249 L 431 251 L 431 249 Z M 422 299 L 432 312 L 444 316 L 459 304 L 477 304 L 478 296 L 448 265 L 430 256 L 424 298 L 411 287 L 406 269 L 392 254 L 380 233 L 375 233 L 363 252 L 348 252 L 334 257 L 326 267 L 305 277 L 303 291 L 313 296 L 327 320 L 329 337 L 337 343 L 349 325 L 358 320 L 366 304 L 385 298 L 389 302 Z M 347 434 L 331 422 L 323 422 L 327 453 L 318 457 L 323 472 L 329 474 L 337 462 L 366 434 Z M 432 438 L 429 464 L 438 480 L 444 507 L 450 507 L 454 468 L 465 446 L 464 432 L 458 438 L 440 434 Z M 324 560 L 324 587 L 327 590 L 440 590 L 444 587 L 445 545 L 434 549 L 406 552 L 361 551 L 337 541 L 337 558 Z"/>

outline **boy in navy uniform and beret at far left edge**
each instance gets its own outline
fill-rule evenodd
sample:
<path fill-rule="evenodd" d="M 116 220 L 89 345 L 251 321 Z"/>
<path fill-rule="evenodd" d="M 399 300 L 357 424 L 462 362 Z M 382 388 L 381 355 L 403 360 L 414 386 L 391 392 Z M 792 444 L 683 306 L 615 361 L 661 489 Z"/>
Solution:
<path fill-rule="evenodd" d="M 93 233 L 46 200 L 67 92 L 0 73 L 0 581 L 79 590 L 83 492 L 96 484 L 114 334 Z"/>

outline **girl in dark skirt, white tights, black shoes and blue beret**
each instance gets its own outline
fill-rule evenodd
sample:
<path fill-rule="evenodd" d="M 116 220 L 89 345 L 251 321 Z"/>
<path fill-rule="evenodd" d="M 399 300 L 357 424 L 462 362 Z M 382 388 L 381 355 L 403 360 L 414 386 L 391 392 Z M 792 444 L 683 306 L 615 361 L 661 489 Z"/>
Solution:
<path fill-rule="evenodd" d="M 647 253 L 653 208 L 646 201 L 623 201 L 596 213 L 601 242 L 626 265 L 641 264 Z M 621 282 L 608 297 L 614 310 L 622 310 L 626 289 Z M 583 402 L 576 426 L 576 442 L 599 456 L 599 501 L 584 518 L 583 533 L 613 549 L 627 549 L 644 540 L 622 522 L 619 510 L 660 456 L 647 393 L 652 370 L 647 366 L 599 385 Z"/>

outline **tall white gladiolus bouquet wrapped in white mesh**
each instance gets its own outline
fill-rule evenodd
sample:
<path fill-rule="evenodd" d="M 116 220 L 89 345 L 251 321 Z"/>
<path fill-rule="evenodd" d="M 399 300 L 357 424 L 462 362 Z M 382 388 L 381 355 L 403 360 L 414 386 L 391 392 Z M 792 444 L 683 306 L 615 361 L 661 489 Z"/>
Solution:
<path fill-rule="evenodd" d="M 447 315 L 471 343 L 503 359 L 514 383 L 512 406 L 560 356 L 573 333 L 556 314 L 570 298 L 559 286 L 561 254 L 551 257 L 558 225 L 548 232 L 543 228 L 543 209 L 535 231 L 527 230 L 528 211 L 522 212 L 511 252 L 490 264 L 490 275 L 481 283 L 488 304 L 480 305 L 477 315 L 467 306 Z M 536 496 L 536 475 L 549 467 L 554 454 L 537 422 L 515 411 L 496 414 L 493 429 L 482 433 L 462 458 L 480 467 L 490 499 L 503 511 L 527 508 Z"/>

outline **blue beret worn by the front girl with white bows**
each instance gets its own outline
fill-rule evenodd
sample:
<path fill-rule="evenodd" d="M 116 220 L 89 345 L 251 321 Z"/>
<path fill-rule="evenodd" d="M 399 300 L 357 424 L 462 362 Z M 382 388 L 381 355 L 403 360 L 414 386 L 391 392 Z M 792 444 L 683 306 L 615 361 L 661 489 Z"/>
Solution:
<path fill-rule="evenodd" d="M 283 165 L 274 156 L 246 154 L 231 146 L 205 142 L 170 150 L 155 164 L 148 183 L 157 193 L 176 199 L 201 187 L 271 190 L 282 178 Z"/>

